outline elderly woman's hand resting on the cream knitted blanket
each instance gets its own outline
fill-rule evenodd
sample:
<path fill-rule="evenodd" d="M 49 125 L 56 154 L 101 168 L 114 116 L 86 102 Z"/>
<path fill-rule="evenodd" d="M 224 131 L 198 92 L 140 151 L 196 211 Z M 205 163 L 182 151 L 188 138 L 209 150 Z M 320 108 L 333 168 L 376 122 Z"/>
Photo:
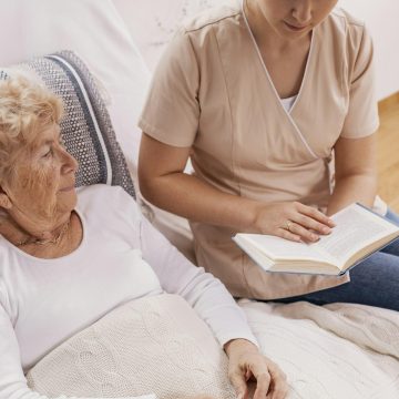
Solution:
<path fill-rule="evenodd" d="M 246 339 L 234 339 L 225 345 L 228 376 L 238 399 L 248 398 L 249 380 L 256 380 L 254 399 L 284 399 L 288 386 L 285 374 L 258 348 Z"/>

